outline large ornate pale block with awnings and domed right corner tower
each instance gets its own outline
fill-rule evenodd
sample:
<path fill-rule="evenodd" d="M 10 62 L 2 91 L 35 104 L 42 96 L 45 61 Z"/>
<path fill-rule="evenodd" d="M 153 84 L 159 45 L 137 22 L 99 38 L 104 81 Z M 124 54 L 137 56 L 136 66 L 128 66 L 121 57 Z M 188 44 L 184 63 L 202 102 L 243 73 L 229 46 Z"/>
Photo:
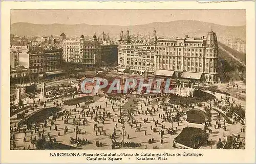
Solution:
<path fill-rule="evenodd" d="M 118 66 L 130 73 L 218 81 L 218 43 L 212 30 L 207 37 L 162 39 L 121 32 Z"/>

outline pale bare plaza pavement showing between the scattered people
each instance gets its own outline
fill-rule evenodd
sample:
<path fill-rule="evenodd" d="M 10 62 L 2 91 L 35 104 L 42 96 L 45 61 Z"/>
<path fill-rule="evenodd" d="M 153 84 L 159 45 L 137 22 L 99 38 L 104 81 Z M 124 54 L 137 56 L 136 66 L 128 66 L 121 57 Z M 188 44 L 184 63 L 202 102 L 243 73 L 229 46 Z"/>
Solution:
<path fill-rule="evenodd" d="M 219 99 L 220 99 L 221 96 L 223 98 L 225 97 L 223 94 L 218 94 L 218 93 L 216 93 L 215 96 Z M 66 98 L 66 99 L 70 99 L 70 98 L 71 97 Z M 37 99 L 38 98 L 35 98 L 35 101 L 37 101 Z M 145 98 L 140 98 L 140 99 L 145 100 Z M 46 99 L 44 99 L 44 101 L 45 100 Z M 55 102 L 57 100 L 58 100 L 58 102 L 61 102 L 61 99 L 56 99 Z M 150 99 L 150 100 L 152 101 L 152 99 Z M 244 101 L 240 101 L 240 100 L 237 100 L 237 99 L 235 99 L 235 101 L 237 103 L 241 103 L 241 104 L 245 103 Z M 28 100 L 28 102 L 33 103 L 33 99 Z M 105 106 L 105 102 L 108 102 L 107 106 Z M 127 100 L 125 100 L 124 103 L 121 103 L 121 106 L 124 105 L 126 102 L 127 102 Z M 157 102 L 157 103 L 160 106 L 160 102 Z M 207 106 L 207 104 L 209 104 L 209 102 L 204 102 L 204 103 L 205 103 L 206 106 Z M 139 101 L 138 102 L 138 110 L 139 111 L 140 111 L 140 104 L 141 103 Z M 103 132 L 102 132 L 102 135 L 99 135 L 99 133 L 98 133 L 98 135 L 96 136 L 95 131 L 93 131 L 93 125 L 95 124 L 95 122 L 94 122 L 94 120 L 91 120 L 91 117 L 89 115 L 89 117 L 86 118 L 88 120 L 88 123 L 86 124 L 86 126 L 83 126 L 83 125 L 78 126 L 78 128 L 81 129 L 81 134 L 77 134 L 77 137 L 79 137 L 80 139 L 87 139 L 87 140 L 89 140 L 90 142 L 93 142 L 93 143 L 88 144 L 88 145 L 83 145 L 79 148 L 82 148 L 82 149 L 111 149 L 112 142 L 109 139 L 109 134 L 113 133 L 113 129 L 115 127 L 115 124 L 117 124 L 116 140 L 119 141 L 119 142 L 122 141 L 122 135 L 118 134 L 122 131 L 122 124 L 117 122 L 118 117 L 115 116 L 115 114 L 119 115 L 118 107 L 116 107 L 116 104 L 114 104 L 115 112 L 113 112 L 113 110 L 111 108 L 112 104 L 110 103 L 110 100 L 108 100 L 104 97 L 101 97 L 96 102 L 91 103 L 89 105 L 89 107 L 91 108 L 92 106 L 94 107 L 94 106 L 97 106 L 97 105 L 101 105 L 101 110 L 99 110 L 99 111 L 101 111 L 101 113 L 103 112 L 103 107 L 105 107 L 106 112 L 111 113 L 111 119 L 106 118 L 104 125 L 102 123 L 98 123 L 98 127 L 103 126 L 103 132 L 105 132 L 106 135 L 103 135 Z M 118 103 L 118 105 L 119 105 L 119 103 Z M 53 102 L 47 102 L 46 103 L 46 107 L 52 107 L 52 106 L 53 106 Z M 70 111 L 71 109 L 76 108 L 75 105 L 73 105 L 73 106 L 62 105 L 62 106 L 63 106 L 63 110 L 67 110 L 67 111 Z M 155 108 L 157 108 L 157 104 L 154 104 L 154 106 L 155 106 Z M 213 104 L 212 104 L 212 106 L 213 106 Z M 147 107 L 151 109 L 151 105 L 145 106 L 142 102 L 142 110 L 145 111 Z M 41 108 L 41 106 L 38 105 L 36 110 L 39 110 L 40 108 Z M 170 107 L 168 107 L 167 110 L 169 108 Z M 200 108 L 200 107 L 197 107 L 197 106 L 195 107 L 195 109 L 203 110 L 202 107 Z M 81 111 L 81 108 L 77 107 L 77 110 Z M 26 115 L 29 115 L 30 113 L 32 113 L 32 112 L 30 111 Z M 80 115 L 80 114 L 77 114 L 77 112 L 71 112 L 71 113 L 72 113 L 72 115 L 71 115 L 71 118 L 69 119 L 69 125 L 64 124 L 63 121 L 61 120 L 61 117 L 57 118 L 57 120 L 54 122 L 54 125 L 57 125 L 58 130 L 57 131 L 53 130 L 54 126 L 52 126 L 52 130 L 50 130 L 50 122 L 47 122 L 47 127 L 45 128 L 45 133 L 44 134 L 47 134 L 47 132 L 50 132 L 51 137 L 52 138 L 55 137 L 57 142 L 70 145 L 70 142 L 69 142 L 70 136 L 72 138 L 75 138 L 75 136 L 76 136 L 75 131 L 74 131 L 75 125 L 73 125 L 73 117 L 76 116 L 77 119 L 78 119 L 78 116 Z M 212 133 L 210 133 L 208 140 L 213 141 L 212 146 L 203 145 L 202 147 L 200 147 L 200 149 L 211 149 L 211 148 L 216 149 L 216 143 L 219 141 L 219 138 L 221 138 L 221 140 L 223 140 L 223 139 L 225 140 L 227 135 L 240 134 L 241 135 L 241 140 L 244 139 L 245 133 L 240 132 L 240 128 L 242 128 L 240 123 L 234 124 L 234 125 L 229 125 L 229 124 L 226 123 L 225 124 L 226 125 L 225 136 L 223 136 L 223 128 L 215 129 L 214 124 L 216 124 L 216 120 L 220 119 L 220 123 L 222 124 L 222 127 L 223 127 L 224 119 L 221 116 L 220 116 L 220 118 L 217 118 L 217 112 L 215 112 L 214 110 L 211 110 L 211 113 L 212 113 L 212 117 L 211 117 L 212 125 L 209 126 L 209 128 L 212 129 Z M 135 114 L 135 120 L 136 120 L 136 122 L 138 121 L 138 126 L 140 124 L 142 125 L 141 131 L 135 132 L 135 129 L 136 129 L 135 124 L 134 124 L 134 127 L 131 128 L 129 126 L 129 123 L 125 123 L 124 124 L 124 126 L 125 126 L 124 131 L 126 131 L 126 133 L 130 135 L 130 140 L 127 139 L 127 134 L 126 134 L 126 136 L 124 136 L 124 142 L 135 142 L 135 143 L 142 144 L 142 146 L 139 147 L 138 149 L 144 149 L 146 146 L 147 146 L 148 149 L 152 149 L 153 146 L 157 146 L 159 149 L 174 149 L 173 148 L 173 140 L 174 140 L 174 138 L 176 138 L 179 135 L 179 133 L 182 131 L 182 129 L 184 127 L 187 127 L 187 126 L 197 127 L 197 128 L 203 128 L 204 127 L 204 125 L 188 123 L 187 121 L 183 120 L 183 121 L 180 121 L 179 126 L 178 126 L 177 122 L 173 123 L 174 129 L 177 127 L 177 134 L 174 134 L 174 135 L 167 134 L 166 129 L 172 127 L 172 123 L 162 122 L 162 119 L 159 118 L 159 116 L 158 116 L 159 114 L 160 115 L 164 114 L 163 108 L 160 109 L 160 107 L 159 107 L 158 112 L 153 114 L 153 116 L 151 116 L 149 114 L 147 114 L 147 116 L 146 116 L 145 113 L 144 113 L 144 115 L 142 115 L 141 113 L 140 113 L 140 115 Z M 176 112 L 174 112 L 173 114 L 175 115 Z M 95 116 L 95 114 L 93 116 Z M 80 115 L 80 117 L 81 117 L 81 115 Z M 16 118 L 16 115 L 11 117 L 11 127 L 14 126 L 14 122 L 16 122 L 16 124 L 17 124 L 17 122 L 20 121 L 20 120 L 15 120 L 15 118 Z M 112 118 L 114 118 L 114 120 L 115 120 L 114 122 L 112 121 Z M 148 122 L 144 124 L 143 119 L 147 119 L 147 118 L 148 118 Z M 163 141 L 164 141 L 163 144 L 161 144 L 161 142 L 160 142 L 160 140 L 161 140 L 160 134 L 158 132 L 153 132 L 153 130 L 150 129 L 151 125 L 153 126 L 153 128 L 155 127 L 155 124 L 153 122 L 153 118 L 155 120 L 159 121 L 159 124 L 157 126 L 158 131 L 162 129 L 161 125 L 165 125 L 164 135 L 163 135 Z M 83 120 L 83 118 L 82 118 L 82 120 Z M 182 118 L 181 118 L 181 120 L 182 120 Z M 82 124 L 81 121 L 80 121 L 80 124 Z M 66 125 L 68 127 L 68 133 L 64 134 L 63 129 L 65 128 Z M 25 126 L 23 126 L 23 127 L 25 127 Z M 15 134 L 16 149 L 23 149 L 24 147 L 27 149 L 29 145 L 30 145 L 30 149 L 33 149 L 33 145 L 31 145 L 31 143 L 29 141 L 30 136 L 31 136 L 30 132 L 27 132 L 27 136 L 26 136 L 26 139 L 27 139 L 28 142 L 25 142 L 25 143 L 23 142 L 23 139 L 25 137 L 25 134 L 22 132 L 23 127 L 20 128 L 21 129 L 20 133 Z M 32 126 L 32 130 L 33 130 L 33 126 Z M 42 131 L 42 128 L 39 128 L 39 131 Z M 85 131 L 86 131 L 86 133 L 84 133 Z M 144 134 L 144 131 L 146 131 L 146 133 L 147 133 L 146 135 Z M 57 136 L 58 132 L 60 132 L 60 136 Z M 38 134 L 34 133 L 34 130 L 33 130 L 32 138 L 34 138 L 34 136 L 36 136 L 36 138 L 38 139 Z M 148 140 L 152 139 L 152 138 L 154 138 L 155 142 L 153 144 L 148 144 Z M 96 147 L 96 141 L 97 140 L 103 144 L 102 147 Z M 75 146 L 75 145 L 73 145 L 73 146 Z M 176 149 L 180 149 L 180 148 L 183 148 L 183 146 L 178 144 Z"/>

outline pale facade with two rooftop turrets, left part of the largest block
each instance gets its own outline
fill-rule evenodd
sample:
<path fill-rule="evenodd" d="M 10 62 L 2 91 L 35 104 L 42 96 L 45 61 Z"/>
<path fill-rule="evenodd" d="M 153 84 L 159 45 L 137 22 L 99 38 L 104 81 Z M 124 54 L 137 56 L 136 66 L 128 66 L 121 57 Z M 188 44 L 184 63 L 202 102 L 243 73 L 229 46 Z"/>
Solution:
<path fill-rule="evenodd" d="M 121 31 L 118 44 L 118 66 L 134 74 L 153 74 L 155 66 L 156 31 L 154 36 L 130 36 Z"/>

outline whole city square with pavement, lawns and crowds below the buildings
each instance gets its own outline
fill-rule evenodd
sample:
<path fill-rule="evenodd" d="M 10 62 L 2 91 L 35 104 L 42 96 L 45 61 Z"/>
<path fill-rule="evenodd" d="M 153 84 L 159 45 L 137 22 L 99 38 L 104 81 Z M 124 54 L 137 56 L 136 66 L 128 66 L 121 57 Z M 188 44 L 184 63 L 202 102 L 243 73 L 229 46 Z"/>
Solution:
<path fill-rule="evenodd" d="M 172 94 L 137 94 L 133 91 L 108 96 L 102 90 L 96 94 L 82 94 L 77 92 L 76 84 L 71 82 L 69 85 L 73 91 L 65 97 L 65 91 L 70 92 L 69 88 L 60 88 L 62 92 L 48 91 L 45 98 L 41 98 L 42 93 L 39 93 L 22 100 L 24 116 L 22 119 L 17 119 L 17 115 L 11 117 L 11 148 L 36 149 L 36 142 L 41 138 L 72 149 L 245 148 L 244 119 L 236 113 L 231 117 L 225 116 L 228 110 L 223 107 L 230 106 L 231 99 L 233 106 L 244 106 L 245 101 L 238 98 L 204 91 L 212 95 L 211 99 L 201 102 L 190 98 L 189 104 L 179 104 L 181 101 L 178 99 L 177 104 L 172 104 L 168 98 Z M 184 138 L 183 130 L 187 128 L 191 131 L 185 130 L 189 133 L 185 136 L 192 135 L 194 129 L 204 130 L 207 135 L 200 138 L 202 143 L 193 146 L 187 143 L 194 139 Z M 221 146 L 217 144 L 219 141 Z"/>

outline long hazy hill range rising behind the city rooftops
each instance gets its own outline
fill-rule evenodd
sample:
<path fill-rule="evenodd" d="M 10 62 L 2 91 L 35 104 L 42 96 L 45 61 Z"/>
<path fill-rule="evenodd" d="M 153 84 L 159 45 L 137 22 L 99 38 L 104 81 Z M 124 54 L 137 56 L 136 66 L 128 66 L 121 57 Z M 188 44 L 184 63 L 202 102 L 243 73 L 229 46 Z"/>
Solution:
<path fill-rule="evenodd" d="M 155 29 L 158 36 L 164 37 L 189 37 L 206 36 L 210 29 L 217 33 L 217 37 L 241 38 L 245 40 L 246 25 L 244 26 L 225 26 L 214 23 L 207 23 L 194 20 L 177 20 L 170 22 L 153 22 L 143 25 L 118 26 L 118 25 L 89 25 L 89 24 L 32 24 L 32 23 L 13 23 L 10 27 L 11 34 L 18 36 L 59 36 L 65 33 L 69 36 L 97 35 L 102 32 L 109 33 L 111 37 L 118 37 L 120 31 L 124 33 L 127 29 L 130 34 L 151 34 Z"/>

